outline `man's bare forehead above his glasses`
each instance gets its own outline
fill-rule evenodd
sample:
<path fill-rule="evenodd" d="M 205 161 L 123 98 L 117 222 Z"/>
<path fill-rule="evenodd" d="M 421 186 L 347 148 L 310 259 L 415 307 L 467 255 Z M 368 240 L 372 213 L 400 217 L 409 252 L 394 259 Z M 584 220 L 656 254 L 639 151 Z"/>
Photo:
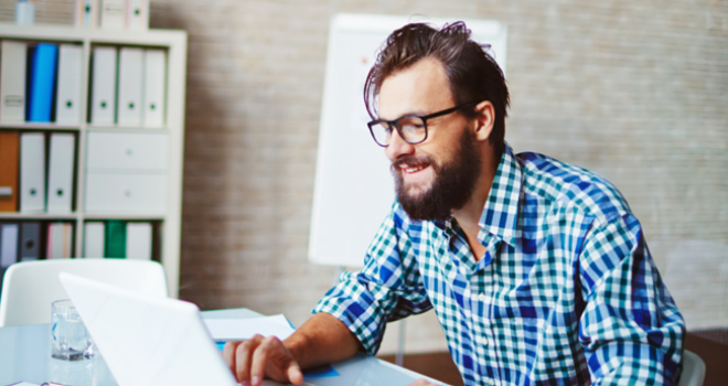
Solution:
<path fill-rule="evenodd" d="M 429 114 L 453 105 L 445 67 L 436 58 L 420 60 L 387 76 L 382 83 L 378 101 L 382 119 Z"/>

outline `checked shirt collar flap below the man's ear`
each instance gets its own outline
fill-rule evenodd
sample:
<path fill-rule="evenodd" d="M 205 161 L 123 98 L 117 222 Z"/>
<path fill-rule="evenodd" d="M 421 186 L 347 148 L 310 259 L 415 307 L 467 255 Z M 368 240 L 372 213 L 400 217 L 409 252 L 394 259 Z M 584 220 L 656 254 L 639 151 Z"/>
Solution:
<path fill-rule="evenodd" d="M 485 200 L 483 214 L 480 217 L 480 232 L 478 238 L 482 242 L 486 233 L 497 236 L 511 246 L 516 238 L 516 224 L 518 219 L 518 197 L 523 173 L 513 149 L 505 143 L 501 163 L 493 178 L 491 192 Z"/>

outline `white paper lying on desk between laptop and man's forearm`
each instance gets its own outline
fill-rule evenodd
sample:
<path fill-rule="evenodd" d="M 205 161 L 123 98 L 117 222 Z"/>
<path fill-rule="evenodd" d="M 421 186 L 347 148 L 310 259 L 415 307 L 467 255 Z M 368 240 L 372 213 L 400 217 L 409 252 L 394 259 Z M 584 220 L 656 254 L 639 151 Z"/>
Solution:
<path fill-rule="evenodd" d="M 279 340 L 290 336 L 293 328 L 282 314 L 251 319 L 205 319 L 210 335 L 216 340 L 246 340 L 255 334 L 275 335 Z"/>

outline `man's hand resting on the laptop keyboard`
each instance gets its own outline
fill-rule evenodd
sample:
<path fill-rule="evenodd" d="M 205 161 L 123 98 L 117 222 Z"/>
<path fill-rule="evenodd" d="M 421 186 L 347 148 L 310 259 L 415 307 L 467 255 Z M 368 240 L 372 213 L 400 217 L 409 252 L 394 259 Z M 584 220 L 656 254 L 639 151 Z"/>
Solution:
<path fill-rule="evenodd" d="M 223 357 L 243 385 L 259 386 L 263 378 L 300 385 L 301 367 L 291 352 L 276 336 L 256 334 L 243 342 L 227 342 Z"/>

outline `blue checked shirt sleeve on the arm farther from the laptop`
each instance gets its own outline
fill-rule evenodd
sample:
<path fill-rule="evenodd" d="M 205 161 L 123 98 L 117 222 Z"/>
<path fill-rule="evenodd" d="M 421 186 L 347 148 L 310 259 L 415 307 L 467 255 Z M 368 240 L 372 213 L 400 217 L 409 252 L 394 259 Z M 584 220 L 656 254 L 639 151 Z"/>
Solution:
<path fill-rule="evenodd" d="M 579 257 L 579 323 L 592 385 L 675 385 L 685 321 L 665 288 L 638 219 L 589 230 Z"/>

